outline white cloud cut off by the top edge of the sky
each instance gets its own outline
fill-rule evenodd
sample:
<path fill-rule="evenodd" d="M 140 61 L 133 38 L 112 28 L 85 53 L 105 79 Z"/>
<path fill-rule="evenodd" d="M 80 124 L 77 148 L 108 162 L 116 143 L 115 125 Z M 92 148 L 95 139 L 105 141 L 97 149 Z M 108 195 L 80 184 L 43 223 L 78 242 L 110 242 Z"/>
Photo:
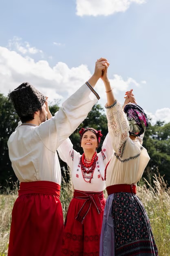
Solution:
<path fill-rule="evenodd" d="M 78 16 L 108 16 L 117 12 L 124 12 L 130 4 L 143 4 L 146 0 L 76 0 L 76 14 Z"/>

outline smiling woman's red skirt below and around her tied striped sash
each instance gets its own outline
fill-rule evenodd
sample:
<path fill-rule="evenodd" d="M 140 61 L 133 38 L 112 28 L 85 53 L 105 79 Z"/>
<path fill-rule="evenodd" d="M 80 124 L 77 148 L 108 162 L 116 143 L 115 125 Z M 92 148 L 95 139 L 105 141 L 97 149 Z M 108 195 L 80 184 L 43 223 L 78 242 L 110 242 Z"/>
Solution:
<path fill-rule="evenodd" d="M 106 199 L 101 201 L 103 211 L 99 214 L 95 205 L 91 207 L 83 223 L 75 219 L 84 200 L 73 198 L 69 204 L 65 221 L 62 256 L 99 256 L 99 241 Z"/>

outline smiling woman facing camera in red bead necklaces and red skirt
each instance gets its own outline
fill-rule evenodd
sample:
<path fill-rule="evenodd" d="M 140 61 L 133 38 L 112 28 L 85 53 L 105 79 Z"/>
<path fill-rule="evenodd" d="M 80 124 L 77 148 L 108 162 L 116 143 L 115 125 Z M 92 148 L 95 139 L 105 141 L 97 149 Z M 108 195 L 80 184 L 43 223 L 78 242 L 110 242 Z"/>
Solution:
<path fill-rule="evenodd" d="M 82 128 L 80 145 L 84 153 L 73 149 L 66 139 L 57 149 L 60 158 L 71 169 L 74 195 L 65 220 L 62 256 L 99 256 L 99 240 L 106 199 L 104 170 L 113 153 L 109 135 L 97 153 L 102 133 Z"/>

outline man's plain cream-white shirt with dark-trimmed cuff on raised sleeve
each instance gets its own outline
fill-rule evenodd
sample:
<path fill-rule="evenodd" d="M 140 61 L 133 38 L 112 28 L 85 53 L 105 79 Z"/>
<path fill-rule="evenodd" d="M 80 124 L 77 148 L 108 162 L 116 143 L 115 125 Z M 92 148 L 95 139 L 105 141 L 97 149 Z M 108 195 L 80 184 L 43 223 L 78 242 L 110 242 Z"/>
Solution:
<path fill-rule="evenodd" d="M 97 99 L 93 88 L 84 84 L 51 119 L 40 126 L 23 125 L 15 129 L 8 148 L 12 168 L 20 182 L 45 180 L 61 184 L 56 150 L 87 117 Z"/>

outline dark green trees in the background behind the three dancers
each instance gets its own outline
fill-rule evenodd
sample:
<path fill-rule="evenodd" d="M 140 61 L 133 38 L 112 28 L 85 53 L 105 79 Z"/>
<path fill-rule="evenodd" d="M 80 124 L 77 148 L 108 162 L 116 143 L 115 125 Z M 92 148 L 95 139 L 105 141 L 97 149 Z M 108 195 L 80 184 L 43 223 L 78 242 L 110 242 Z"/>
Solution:
<path fill-rule="evenodd" d="M 52 115 L 59 109 L 59 102 L 50 106 L 50 111 Z M 6 185 L 6 180 L 11 179 L 13 182 L 17 180 L 13 169 L 11 167 L 11 162 L 8 154 L 7 141 L 11 133 L 15 130 L 18 124 L 19 118 L 16 114 L 12 102 L 9 96 L 5 97 L 0 94 L 0 186 Z M 80 135 L 79 130 L 81 128 L 93 127 L 96 130 L 101 130 L 103 137 L 102 141 L 106 137 L 108 132 L 107 119 L 104 112 L 104 108 L 99 104 L 93 106 L 91 112 L 89 112 L 87 118 L 80 124 L 80 126 L 73 132 L 70 139 L 73 143 L 73 147 L 80 153 L 83 153 L 82 148 L 79 144 Z M 63 127 L 66 129 L 66 127 Z M 101 145 L 98 149 L 101 150 Z M 144 172 L 144 176 L 151 181 L 152 175 L 159 173 L 165 175 L 165 180 L 170 184 L 170 123 L 164 124 L 161 121 L 157 121 L 157 124 L 152 126 L 150 124 L 146 134 L 144 136 L 143 146 L 148 150 L 150 155 L 150 162 Z M 63 176 L 65 175 L 63 169 L 67 169 L 66 163 L 60 160 L 61 169 Z M 65 177 L 65 176 L 64 176 Z"/>

